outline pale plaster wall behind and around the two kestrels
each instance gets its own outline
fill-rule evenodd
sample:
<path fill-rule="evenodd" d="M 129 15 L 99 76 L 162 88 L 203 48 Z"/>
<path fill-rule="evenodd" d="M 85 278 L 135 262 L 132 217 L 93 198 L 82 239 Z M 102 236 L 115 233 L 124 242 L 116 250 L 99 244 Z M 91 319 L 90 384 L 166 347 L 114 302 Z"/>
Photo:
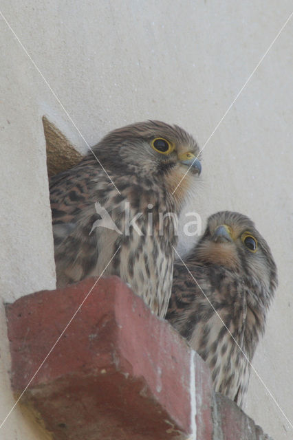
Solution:
<path fill-rule="evenodd" d="M 30 0 L 3 1 L 1 12 L 89 144 L 110 129 L 152 118 L 182 125 L 204 145 L 292 2 Z M 195 197 L 204 219 L 222 209 L 248 214 L 272 248 L 280 283 L 253 364 L 291 421 L 292 21 L 206 146 Z M 42 115 L 79 151 L 86 146 L 0 22 L 0 277 L 1 295 L 12 301 L 54 288 Z M 13 399 L 3 313 L 1 320 L 2 420 Z M 292 439 L 253 372 L 247 412 L 275 440 Z M 0 438 L 8 440 L 41 438 L 19 409 L 2 429 Z"/>

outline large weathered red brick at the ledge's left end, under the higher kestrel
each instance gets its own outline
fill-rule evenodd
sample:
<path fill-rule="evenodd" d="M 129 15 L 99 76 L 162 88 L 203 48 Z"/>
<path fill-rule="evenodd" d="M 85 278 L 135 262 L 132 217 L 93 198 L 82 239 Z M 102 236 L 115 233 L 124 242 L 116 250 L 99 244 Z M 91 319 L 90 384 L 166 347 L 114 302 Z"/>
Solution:
<path fill-rule="evenodd" d="M 15 392 L 27 386 L 94 283 L 37 292 L 7 306 Z M 171 326 L 119 278 L 101 278 L 24 401 L 54 439 L 184 439 L 191 433 L 192 357 Z M 195 359 L 197 421 L 209 436 L 208 369 Z"/>

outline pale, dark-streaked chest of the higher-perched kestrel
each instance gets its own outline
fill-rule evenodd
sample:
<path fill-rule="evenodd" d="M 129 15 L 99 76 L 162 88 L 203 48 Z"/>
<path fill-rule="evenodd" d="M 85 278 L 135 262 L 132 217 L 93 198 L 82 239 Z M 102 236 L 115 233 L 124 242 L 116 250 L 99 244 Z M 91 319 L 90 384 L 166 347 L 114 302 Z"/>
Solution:
<path fill-rule="evenodd" d="M 152 213 L 153 214 L 153 213 Z M 171 294 L 175 221 L 155 212 L 142 215 L 137 228 L 121 239 L 120 276 L 160 316 L 166 314 Z"/>

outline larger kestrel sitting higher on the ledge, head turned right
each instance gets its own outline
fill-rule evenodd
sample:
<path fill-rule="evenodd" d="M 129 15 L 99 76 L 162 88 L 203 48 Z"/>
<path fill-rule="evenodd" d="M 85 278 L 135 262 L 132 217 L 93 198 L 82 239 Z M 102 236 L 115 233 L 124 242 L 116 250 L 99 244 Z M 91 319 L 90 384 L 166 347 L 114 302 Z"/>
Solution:
<path fill-rule="evenodd" d="M 199 147 L 179 126 L 148 121 L 112 131 L 92 150 L 50 179 L 57 286 L 115 274 L 164 317 L 177 215 L 196 188 Z"/>

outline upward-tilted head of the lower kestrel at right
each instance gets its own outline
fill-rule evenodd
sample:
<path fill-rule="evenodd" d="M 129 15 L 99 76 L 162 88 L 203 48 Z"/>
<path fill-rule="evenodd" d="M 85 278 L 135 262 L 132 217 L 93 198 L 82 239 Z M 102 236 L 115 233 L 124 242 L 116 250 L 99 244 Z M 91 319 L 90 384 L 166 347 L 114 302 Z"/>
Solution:
<path fill-rule="evenodd" d="M 268 243 L 254 223 L 239 212 L 221 211 L 208 218 L 206 231 L 196 246 L 197 261 L 221 265 L 248 275 L 274 292 L 276 265 Z"/>

